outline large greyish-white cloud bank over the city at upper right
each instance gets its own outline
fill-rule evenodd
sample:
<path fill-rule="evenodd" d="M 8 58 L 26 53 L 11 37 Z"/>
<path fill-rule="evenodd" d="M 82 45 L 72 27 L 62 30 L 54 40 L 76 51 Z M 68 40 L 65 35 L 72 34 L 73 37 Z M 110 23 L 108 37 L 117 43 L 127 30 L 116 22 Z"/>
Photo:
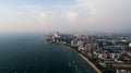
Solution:
<path fill-rule="evenodd" d="M 131 26 L 130 0 L 76 0 L 78 9 L 91 14 L 84 24 L 94 31 L 128 32 Z"/>

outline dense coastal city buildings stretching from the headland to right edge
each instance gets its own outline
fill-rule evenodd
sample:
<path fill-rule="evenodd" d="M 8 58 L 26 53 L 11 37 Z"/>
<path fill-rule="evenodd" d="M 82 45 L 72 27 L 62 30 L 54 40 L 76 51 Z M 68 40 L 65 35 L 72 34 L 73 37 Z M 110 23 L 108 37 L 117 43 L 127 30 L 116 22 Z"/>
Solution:
<path fill-rule="evenodd" d="M 131 37 L 56 33 L 50 40 L 82 53 L 104 73 L 131 73 Z"/>

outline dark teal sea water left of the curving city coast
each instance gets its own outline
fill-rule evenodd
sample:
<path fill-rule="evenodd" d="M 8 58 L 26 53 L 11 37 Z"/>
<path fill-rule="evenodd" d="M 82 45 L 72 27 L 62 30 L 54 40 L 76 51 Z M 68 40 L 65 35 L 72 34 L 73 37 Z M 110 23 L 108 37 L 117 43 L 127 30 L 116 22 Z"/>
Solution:
<path fill-rule="evenodd" d="M 96 73 L 81 57 L 41 34 L 0 36 L 0 73 Z"/>

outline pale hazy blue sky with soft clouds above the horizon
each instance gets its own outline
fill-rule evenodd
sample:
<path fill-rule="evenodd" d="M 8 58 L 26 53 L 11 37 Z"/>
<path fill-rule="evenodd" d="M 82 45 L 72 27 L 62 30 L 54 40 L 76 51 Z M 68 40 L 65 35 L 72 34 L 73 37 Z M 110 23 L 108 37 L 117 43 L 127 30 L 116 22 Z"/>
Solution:
<path fill-rule="evenodd" d="M 130 33 L 131 0 L 0 0 L 0 33 Z"/>

